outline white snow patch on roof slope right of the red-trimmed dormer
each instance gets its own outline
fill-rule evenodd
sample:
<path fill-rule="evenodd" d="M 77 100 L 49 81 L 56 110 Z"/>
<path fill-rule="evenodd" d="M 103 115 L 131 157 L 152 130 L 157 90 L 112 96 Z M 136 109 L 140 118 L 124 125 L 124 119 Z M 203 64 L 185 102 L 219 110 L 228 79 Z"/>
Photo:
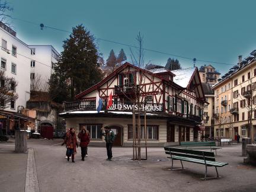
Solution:
<path fill-rule="evenodd" d="M 173 81 L 175 82 L 175 84 L 178 84 L 183 88 L 186 88 L 188 83 L 190 82 L 191 76 L 193 75 L 195 69 L 196 68 L 187 68 L 171 71 L 175 75 Z"/>

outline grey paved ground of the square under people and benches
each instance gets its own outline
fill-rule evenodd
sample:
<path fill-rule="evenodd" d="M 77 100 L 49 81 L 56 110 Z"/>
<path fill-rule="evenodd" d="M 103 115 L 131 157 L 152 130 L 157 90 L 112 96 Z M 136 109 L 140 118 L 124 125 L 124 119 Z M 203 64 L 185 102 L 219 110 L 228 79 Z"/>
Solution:
<path fill-rule="evenodd" d="M 113 161 L 105 161 L 105 148 L 89 146 L 85 161 L 81 161 L 78 148 L 76 162 L 72 163 L 66 161 L 66 149 L 58 144 L 61 142 L 28 141 L 28 147 L 34 149 L 40 191 L 256 191 L 256 167 L 243 163 L 241 145 L 219 149 L 217 161 L 229 165 L 218 168 L 222 178 L 202 181 L 204 165 L 184 162 L 184 170 L 171 171 L 163 148 L 148 148 L 148 160 L 138 162 L 131 160 L 132 148 L 113 148 Z M 0 163 L 6 164 L 2 159 Z M 179 161 L 174 162 L 174 167 L 180 166 Z M 208 170 L 209 176 L 216 176 L 215 168 Z M 0 172 L 0 178 L 6 175 L 7 171 Z M 15 179 L 24 181 L 23 175 Z M 4 181 L 5 186 L 13 182 Z"/>

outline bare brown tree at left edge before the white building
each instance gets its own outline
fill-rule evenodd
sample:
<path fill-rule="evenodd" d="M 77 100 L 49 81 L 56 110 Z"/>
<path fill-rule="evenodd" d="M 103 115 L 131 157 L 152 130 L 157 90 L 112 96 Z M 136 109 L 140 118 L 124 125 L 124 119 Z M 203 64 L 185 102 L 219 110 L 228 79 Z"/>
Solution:
<path fill-rule="evenodd" d="M 5 71 L 0 71 L 0 103 L 1 108 L 7 108 L 11 105 L 11 101 L 18 99 L 18 94 L 15 89 L 18 85 L 14 78 L 5 76 Z"/>

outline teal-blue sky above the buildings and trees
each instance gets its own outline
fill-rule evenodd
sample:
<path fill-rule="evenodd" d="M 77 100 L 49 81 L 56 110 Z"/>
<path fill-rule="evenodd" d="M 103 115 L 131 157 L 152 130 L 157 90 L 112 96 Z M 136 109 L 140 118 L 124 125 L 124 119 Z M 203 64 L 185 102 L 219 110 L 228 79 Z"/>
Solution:
<path fill-rule="evenodd" d="M 244 58 L 256 49 L 256 1 L 8 2 L 14 9 L 12 17 L 18 19 L 12 19 L 11 25 L 19 39 L 27 44 L 52 44 L 59 52 L 62 52 L 63 40 L 68 38 L 69 33 L 50 28 L 41 30 L 39 24 L 66 31 L 83 24 L 96 38 L 133 46 L 137 46 L 136 37 L 140 33 L 145 49 L 167 53 L 145 50 L 145 63 L 165 66 L 168 57 L 171 57 L 178 59 L 182 68 L 190 68 L 193 67 L 193 58 L 196 58 L 196 66 L 210 64 L 220 73 L 236 65 L 238 55 Z M 105 60 L 111 49 L 118 55 L 122 48 L 127 60 L 131 60 L 129 46 L 102 40 L 96 43 Z M 132 50 L 134 53 L 137 51 Z"/>

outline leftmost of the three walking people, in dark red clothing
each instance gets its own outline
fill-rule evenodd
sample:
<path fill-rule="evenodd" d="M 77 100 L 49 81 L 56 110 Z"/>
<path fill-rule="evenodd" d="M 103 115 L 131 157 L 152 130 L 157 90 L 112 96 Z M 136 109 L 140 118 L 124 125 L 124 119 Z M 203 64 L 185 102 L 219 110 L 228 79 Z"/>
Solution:
<path fill-rule="evenodd" d="M 71 128 L 68 133 L 66 133 L 66 137 L 62 145 L 66 144 L 66 155 L 68 156 L 68 161 L 70 156 L 72 156 L 72 162 L 75 162 L 75 153 L 76 147 L 78 147 L 78 142 L 76 140 L 75 129 Z"/>

